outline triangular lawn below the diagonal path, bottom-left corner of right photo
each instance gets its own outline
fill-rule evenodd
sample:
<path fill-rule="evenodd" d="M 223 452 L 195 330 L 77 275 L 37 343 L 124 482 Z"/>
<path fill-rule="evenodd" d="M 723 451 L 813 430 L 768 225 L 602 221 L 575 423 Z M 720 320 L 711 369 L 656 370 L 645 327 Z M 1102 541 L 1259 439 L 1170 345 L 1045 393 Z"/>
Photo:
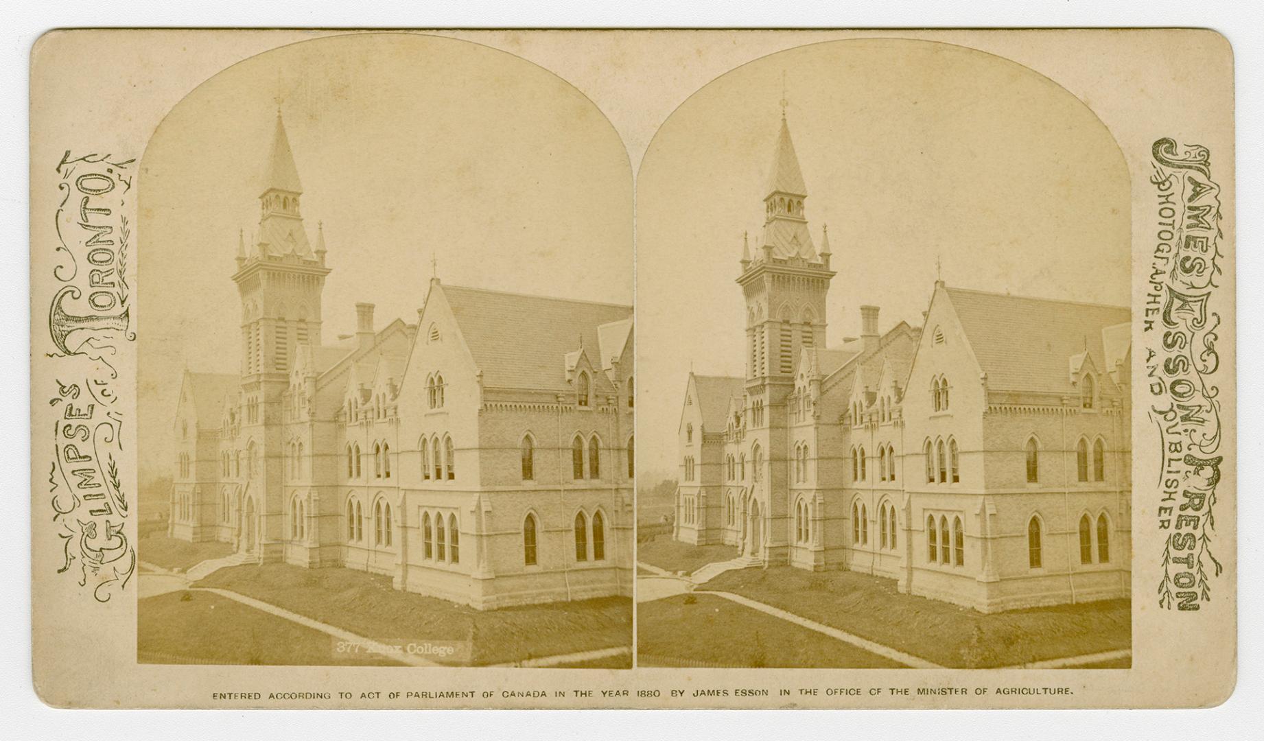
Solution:
<path fill-rule="evenodd" d="M 877 654 L 713 594 L 637 606 L 641 666 L 902 668 Z"/>

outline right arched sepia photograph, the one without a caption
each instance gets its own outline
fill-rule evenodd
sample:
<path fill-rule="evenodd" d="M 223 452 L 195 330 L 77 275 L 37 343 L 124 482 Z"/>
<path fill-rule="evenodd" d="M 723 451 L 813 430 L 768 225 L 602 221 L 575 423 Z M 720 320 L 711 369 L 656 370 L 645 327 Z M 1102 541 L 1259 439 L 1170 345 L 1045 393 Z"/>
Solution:
<path fill-rule="evenodd" d="M 1129 200 L 957 46 L 686 100 L 637 183 L 640 664 L 1127 668 Z"/>

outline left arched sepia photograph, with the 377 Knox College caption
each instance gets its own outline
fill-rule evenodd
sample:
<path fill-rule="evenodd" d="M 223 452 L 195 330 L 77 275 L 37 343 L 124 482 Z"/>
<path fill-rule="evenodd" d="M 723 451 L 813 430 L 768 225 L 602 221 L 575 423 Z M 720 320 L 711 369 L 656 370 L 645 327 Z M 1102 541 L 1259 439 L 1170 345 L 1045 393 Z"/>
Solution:
<path fill-rule="evenodd" d="M 190 92 L 138 191 L 139 661 L 631 666 L 629 172 L 590 101 L 303 42 Z"/>

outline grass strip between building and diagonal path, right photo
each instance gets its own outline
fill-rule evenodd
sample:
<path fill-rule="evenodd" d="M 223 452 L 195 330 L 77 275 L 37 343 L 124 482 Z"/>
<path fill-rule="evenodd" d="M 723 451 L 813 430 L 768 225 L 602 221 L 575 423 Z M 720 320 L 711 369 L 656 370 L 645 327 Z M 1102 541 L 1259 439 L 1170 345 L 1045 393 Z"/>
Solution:
<path fill-rule="evenodd" d="M 896 592 L 894 579 L 791 566 L 727 572 L 708 582 L 863 639 L 954 668 L 994 668 L 1131 647 L 1131 601 L 983 615 Z"/>

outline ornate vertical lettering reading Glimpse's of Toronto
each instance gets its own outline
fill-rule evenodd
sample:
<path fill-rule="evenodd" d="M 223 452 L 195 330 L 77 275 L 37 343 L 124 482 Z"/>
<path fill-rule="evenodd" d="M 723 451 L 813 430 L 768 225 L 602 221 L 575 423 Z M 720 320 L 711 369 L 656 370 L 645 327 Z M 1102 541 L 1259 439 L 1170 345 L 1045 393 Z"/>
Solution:
<path fill-rule="evenodd" d="M 131 506 L 119 470 L 123 408 L 115 362 L 130 329 L 125 209 L 133 161 L 110 154 L 75 157 L 67 150 L 56 172 L 61 197 L 56 292 L 48 310 L 54 358 L 49 406 L 53 460 L 48 484 L 53 522 L 62 541 L 59 574 L 77 577 L 97 602 L 123 591 L 137 568 L 124 524 Z"/>

